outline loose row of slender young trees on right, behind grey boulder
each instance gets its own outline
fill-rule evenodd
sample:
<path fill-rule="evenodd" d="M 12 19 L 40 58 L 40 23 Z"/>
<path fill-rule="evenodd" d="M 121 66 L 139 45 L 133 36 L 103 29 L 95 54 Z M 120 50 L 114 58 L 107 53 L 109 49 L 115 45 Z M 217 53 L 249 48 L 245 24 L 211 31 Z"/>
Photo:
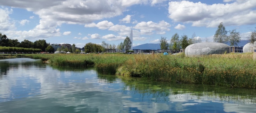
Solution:
<path fill-rule="evenodd" d="M 227 35 L 228 32 L 229 32 L 229 35 Z M 214 34 L 213 40 L 214 42 L 218 42 L 218 43 L 227 43 L 229 41 L 230 46 L 237 46 L 241 40 L 241 36 L 240 36 L 240 32 L 237 32 L 236 29 L 227 31 L 223 23 L 221 22 L 218 25 L 218 28 Z M 248 40 L 250 41 L 250 43 L 254 44 L 254 42 L 256 41 L 256 30 L 251 31 L 248 37 Z M 202 40 L 200 38 L 197 39 L 195 33 L 192 35 L 191 38 L 188 38 L 187 35 L 182 35 L 181 37 L 179 37 L 178 33 L 175 33 L 171 37 L 170 43 L 168 43 L 167 37 L 161 37 L 159 44 L 160 44 L 161 50 L 168 50 L 169 48 L 170 50 L 175 51 L 180 48 L 184 50 L 190 44 L 201 43 L 201 42 Z M 208 39 L 206 39 L 206 42 L 208 42 Z"/>

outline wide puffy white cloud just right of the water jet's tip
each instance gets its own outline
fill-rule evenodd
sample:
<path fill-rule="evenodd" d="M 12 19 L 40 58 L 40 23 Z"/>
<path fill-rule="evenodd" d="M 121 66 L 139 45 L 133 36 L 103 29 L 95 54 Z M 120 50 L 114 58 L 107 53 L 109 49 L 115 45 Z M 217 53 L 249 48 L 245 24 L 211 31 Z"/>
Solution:
<path fill-rule="evenodd" d="M 170 31 L 171 25 L 165 21 L 160 21 L 159 23 L 155 23 L 152 21 L 148 22 L 140 22 L 135 25 L 134 29 L 139 29 L 141 34 L 153 34 L 153 31 L 157 31 L 156 33 L 161 34 L 163 31 Z"/>

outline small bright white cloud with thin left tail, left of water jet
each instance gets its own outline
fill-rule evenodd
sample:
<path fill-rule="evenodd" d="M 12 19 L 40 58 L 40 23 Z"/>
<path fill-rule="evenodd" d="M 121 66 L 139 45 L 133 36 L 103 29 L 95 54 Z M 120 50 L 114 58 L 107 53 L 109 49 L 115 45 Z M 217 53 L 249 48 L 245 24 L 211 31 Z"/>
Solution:
<path fill-rule="evenodd" d="M 113 26 L 114 24 L 112 22 L 108 22 L 108 21 L 101 21 L 97 24 L 95 23 L 90 23 L 90 24 L 85 24 L 85 27 L 97 27 L 99 29 L 108 29 L 109 27 Z"/>

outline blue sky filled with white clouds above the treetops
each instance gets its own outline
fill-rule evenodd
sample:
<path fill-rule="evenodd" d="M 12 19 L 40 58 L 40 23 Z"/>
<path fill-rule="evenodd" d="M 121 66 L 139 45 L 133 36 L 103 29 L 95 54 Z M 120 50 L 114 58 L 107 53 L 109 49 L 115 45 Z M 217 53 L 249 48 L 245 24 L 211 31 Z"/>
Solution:
<path fill-rule="evenodd" d="M 175 33 L 213 42 L 221 22 L 247 39 L 256 0 L 1 0 L 0 15 L 0 32 L 19 42 L 117 46 L 131 30 L 133 46 L 169 42 Z"/>

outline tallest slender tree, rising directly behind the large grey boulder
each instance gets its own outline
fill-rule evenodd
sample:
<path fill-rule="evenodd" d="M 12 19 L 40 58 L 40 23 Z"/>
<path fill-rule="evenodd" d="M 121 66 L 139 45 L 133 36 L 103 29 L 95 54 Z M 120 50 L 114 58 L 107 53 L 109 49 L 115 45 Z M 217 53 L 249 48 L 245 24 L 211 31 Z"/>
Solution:
<path fill-rule="evenodd" d="M 222 22 L 218 25 L 218 29 L 214 34 L 213 40 L 218 43 L 226 43 L 228 41 L 227 31 Z"/>

